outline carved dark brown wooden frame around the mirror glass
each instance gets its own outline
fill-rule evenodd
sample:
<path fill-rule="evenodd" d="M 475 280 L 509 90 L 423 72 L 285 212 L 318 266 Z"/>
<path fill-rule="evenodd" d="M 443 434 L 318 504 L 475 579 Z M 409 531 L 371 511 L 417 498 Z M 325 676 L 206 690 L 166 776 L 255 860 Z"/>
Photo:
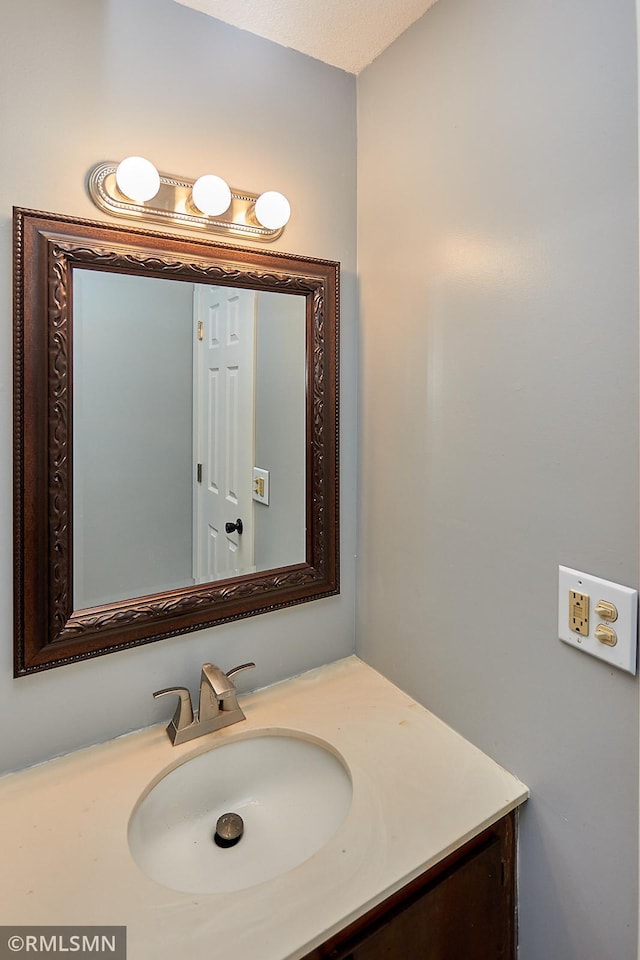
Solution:
<path fill-rule="evenodd" d="M 79 267 L 305 297 L 304 563 L 73 609 Z M 14 210 L 16 676 L 339 592 L 338 296 L 339 265 L 331 261 Z"/>

